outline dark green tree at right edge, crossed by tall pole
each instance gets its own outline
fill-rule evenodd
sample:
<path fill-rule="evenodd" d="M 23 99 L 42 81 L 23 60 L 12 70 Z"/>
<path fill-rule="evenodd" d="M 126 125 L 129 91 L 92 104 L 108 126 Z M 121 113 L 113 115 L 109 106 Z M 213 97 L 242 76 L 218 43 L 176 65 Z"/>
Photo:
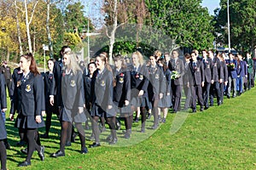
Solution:
<path fill-rule="evenodd" d="M 219 42 L 228 42 L 227 1 L 220 1 L 221 8 L 216 11 L 215 29 L 221 35 Z M 256 48 L 256 6 L 254 0 L 230 0 L 230 43 L 241 51 Z"/>

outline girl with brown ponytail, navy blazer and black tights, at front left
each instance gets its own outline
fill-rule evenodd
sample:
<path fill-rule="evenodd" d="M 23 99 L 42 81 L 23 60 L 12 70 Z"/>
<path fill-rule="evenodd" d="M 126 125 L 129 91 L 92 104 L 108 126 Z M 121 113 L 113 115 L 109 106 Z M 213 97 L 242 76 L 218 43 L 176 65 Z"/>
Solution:
<path fill-rule="evenodd" d="M 20 82 L 20 113 L 17 116 L 15 127 L 23 128 L 26 133 L 28 152 L 26 161 L 19 167 L 31 165 L 32 153 L 38 150 L 38 156 L 44 161 L 44 146 L 36 143 L 38 128 L 44 127 L 42 111 L 44 111 L 44 80 L 38 72 L 36 61 L 32 54 L 20 56 L 20 70 L 23 71 Z M 10 114 L 10 119 L 14 115 Z"/>

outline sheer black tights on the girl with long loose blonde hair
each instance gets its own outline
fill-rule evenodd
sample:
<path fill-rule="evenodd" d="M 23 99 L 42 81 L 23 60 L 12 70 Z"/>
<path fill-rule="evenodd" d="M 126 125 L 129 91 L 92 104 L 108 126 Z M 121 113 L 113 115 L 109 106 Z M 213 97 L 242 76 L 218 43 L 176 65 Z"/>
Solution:
<path fill-rule="evenodd" d="M 61 122 L 61 151 L 64 152 L 65 150 L 65 145 L 67 142 L 67 133 L 68 133 L 68 128 L 70 128 L 70 126 L 73 127 L 71 122 L 66 122 L 66 121 L 62 121 Z M 80 122 L 76 122 L 75 123 L 75 127 L 78 129 L 79 131 L 79 139 L 81 142 L 81 148 L 85 148 L 85 133 L 84 133 L 84 127 L 82 126 L 82 123 Z"/>

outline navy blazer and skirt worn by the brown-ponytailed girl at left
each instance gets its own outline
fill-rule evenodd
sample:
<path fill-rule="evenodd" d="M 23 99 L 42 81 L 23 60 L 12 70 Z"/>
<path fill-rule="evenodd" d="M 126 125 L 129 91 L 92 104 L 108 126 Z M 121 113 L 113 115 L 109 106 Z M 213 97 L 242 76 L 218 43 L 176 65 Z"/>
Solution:
<path fill-rule="evenodd" d="M 20 113 L 17 116 L 15 127 L 23 129 L 44 127 L 42 116 L 42 111 L 45 108 L 43 77 L 41 75 L 34 76 L 32 72 L 27 75 L 22 74 L 19 86 Z M 35 116 L 41 116 L 42 122 L 36 122 Z"/>

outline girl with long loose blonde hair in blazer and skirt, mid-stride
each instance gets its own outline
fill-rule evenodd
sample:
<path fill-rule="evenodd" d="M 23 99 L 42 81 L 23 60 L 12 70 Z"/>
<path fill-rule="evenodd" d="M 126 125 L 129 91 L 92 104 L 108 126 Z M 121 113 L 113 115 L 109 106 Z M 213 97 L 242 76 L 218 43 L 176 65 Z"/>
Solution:
<path fill-rule="evenodd" d="M 81 154 L 88 152 L 85 146 L 85 133 L 82 123 L 86 121 L 84 114 L 84 84 L 83 72 L 76 61 L 76 54 L 66 52 L 63 55 L 65 70 L 61 78 L 61 144 L 60 150 L 52 154 L 53 157 L 65 156 L 65 145 L 68 138 L 68 128 L 75 127 L 79 132 Z"/>

